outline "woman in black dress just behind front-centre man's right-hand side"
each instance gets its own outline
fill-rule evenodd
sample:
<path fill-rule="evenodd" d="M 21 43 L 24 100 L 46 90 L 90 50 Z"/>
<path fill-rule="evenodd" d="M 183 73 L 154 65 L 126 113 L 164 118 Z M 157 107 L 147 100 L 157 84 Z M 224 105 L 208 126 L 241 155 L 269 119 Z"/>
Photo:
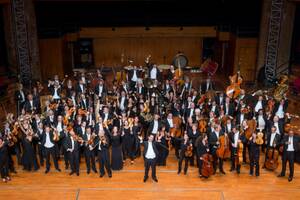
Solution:
<path fill-rule="evenodd" d="M 158 166 L 166 166 L 166 160 L 169 155 L 168 149 L 168 140 L 166 136 L 166 127 L 162 126 L 161 130 L 158 132 L 156 136 L 156 141 L 160 144 L 157 146 L 158 148 L 158 158 L 157 158 L 157 165 Z"/>

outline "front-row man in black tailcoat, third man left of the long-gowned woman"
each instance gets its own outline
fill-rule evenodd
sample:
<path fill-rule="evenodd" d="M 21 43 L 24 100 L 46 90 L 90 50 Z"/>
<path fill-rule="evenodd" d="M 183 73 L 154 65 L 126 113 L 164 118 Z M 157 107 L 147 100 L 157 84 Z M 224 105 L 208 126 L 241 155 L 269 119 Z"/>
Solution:
<path fill-rule="evenodd" d="M 79 146 L 81 144 L 75 138 L 75 132 L 71 130 L 64 141 L 64 148 L 67 150 L 67 154 L 70 161 L 70 176 L 74 173 L 76 173 L 76 175 L 79 176 Z"/>

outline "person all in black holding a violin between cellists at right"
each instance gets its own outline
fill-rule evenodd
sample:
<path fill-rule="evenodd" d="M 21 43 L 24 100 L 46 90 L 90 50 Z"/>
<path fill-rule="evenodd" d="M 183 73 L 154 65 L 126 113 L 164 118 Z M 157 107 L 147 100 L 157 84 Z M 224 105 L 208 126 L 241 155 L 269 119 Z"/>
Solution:
<path fill-rule="evenodd" d="M 249 160 L 250 160 L 250 175 L 253 176 L 253 169 L 255 166 L 255 176 L 259 176 L 259 144 L 256 142 L 257 134 L 256 132 L 252 133 L 252 137 L 250 137 L 248 145 L 249 145 Z"/>

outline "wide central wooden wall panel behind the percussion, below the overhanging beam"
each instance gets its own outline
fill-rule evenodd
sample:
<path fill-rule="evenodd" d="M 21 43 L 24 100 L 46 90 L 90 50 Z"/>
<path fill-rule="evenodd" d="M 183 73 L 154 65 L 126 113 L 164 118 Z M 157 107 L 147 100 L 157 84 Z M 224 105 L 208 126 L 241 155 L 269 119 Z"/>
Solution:
<path fill-rule="evenodd" d="M 200 37 L 137 37 L 137 38 L 95 38 L 95 65 L 126 65 L 128 59 L 143 65 L 147 55 L 158 64 L 170 64 L 178 51 L 183 52 L 189 65 L 199 66 L 202 61 L 202 38 Z M 124 54 L 125 63 L 121 63 Z"/>

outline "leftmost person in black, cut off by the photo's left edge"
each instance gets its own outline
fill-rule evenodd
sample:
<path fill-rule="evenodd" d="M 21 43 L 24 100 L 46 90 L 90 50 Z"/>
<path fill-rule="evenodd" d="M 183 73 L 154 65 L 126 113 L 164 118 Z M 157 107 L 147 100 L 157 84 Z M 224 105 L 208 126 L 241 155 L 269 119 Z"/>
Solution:
<path fill-rule="evenodd" d="M 10 181 L 9 167 L 8 167 L 8 141 L 0 137 L 0 173 L 2 182 Z"/>

